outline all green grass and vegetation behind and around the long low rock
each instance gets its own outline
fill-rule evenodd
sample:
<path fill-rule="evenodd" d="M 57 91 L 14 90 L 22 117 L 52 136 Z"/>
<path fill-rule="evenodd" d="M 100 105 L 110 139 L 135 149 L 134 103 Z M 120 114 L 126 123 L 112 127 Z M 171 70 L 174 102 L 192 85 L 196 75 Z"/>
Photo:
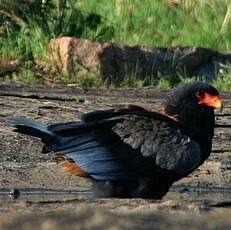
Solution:
<path fill-rule="evenodd" d="M 17 8 L 17 1 L 12 2 L 16 3 L 10 7 Z M 63 1 L 66 2 L 63 17 L 57 4 L 62 1 L 47 2 L 50 5 L 42 14 L 39 10 L 32 12 L 29 6 L 25 13 L 12 10 L 12 15 L 16 14 L 15 18 L 22 21 L 19 24 L 9 19 L 9 25 L 1 24 L 0 14 L 0 59 L 21 61 L 20 71 L 16 73 L 20 75 L 20 80 L 40 82 L 28 70 L 30 63 L 37 60 L 45 63 L 49 40 L 65 35 L 130 45 L 195 45 L 226 52 L 231 50 L 230 26 L 220 32 L 230 3 L 228 0 L 191 0 L 188 5 L 167 4 L 163 0 L 66 0 Z M 20 9 L 20 4 L 18 7 Z M 231 90 L 230 78 L 228 71 L 214 84 Z M 123 82 L 102 82 L 94 73 L 88 76 L 61 74 L 58 79 L 66 84 L 87 86 L 159 85 L 168 88 L 179 83 L 162 79 L 161 76 L 148 76 L 140 80 L 135 72 L 125 76 Z M 188 81 L 187 77 L 179 79 L 181 82 Z"/>

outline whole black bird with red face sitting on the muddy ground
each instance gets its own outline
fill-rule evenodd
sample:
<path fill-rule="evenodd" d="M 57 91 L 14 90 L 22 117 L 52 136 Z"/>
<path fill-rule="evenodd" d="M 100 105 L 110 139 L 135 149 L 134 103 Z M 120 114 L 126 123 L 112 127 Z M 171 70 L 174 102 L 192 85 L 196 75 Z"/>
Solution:
<path fill-rule="evenodd" d="M 164 113 L 135 105 L 85 114 L 80 122 L 45 125 L 9 118 L 16 132 L 41 138 L 67 172 L 91 178 L 99 197 L 160 199 L 210 155 L 218 91 L 192 82 L 173 89 Z"/>

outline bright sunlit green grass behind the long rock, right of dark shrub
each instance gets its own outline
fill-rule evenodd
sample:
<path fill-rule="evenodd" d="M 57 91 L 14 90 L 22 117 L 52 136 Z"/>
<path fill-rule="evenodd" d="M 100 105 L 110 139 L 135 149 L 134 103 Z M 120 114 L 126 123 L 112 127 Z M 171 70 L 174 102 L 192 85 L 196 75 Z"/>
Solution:
<path fill-rule="evenodd" d="M 150 46 L 197 45 L 229 51 L 231 31 L 220 33 L 227 12 L 226 0 L 203 0 L 185 8 L 161 0 L 79 1 L 86 12 L 95 12 L 114 25 L 112 42 Z M 199 2 L 197 0 L 197 2 Z M 207 4 L 206 4 L 207 2 Z M 92 36 L 94 38 L 94 36 Z"/>

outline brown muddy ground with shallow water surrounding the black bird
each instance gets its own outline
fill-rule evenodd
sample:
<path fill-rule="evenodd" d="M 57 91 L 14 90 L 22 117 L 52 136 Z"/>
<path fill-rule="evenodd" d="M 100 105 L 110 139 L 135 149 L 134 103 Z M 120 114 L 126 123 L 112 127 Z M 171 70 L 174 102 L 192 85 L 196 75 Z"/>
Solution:
<path fill-rule="evenodd" d="M 230 128 L 216 128 L 210 158 L 162 200 L 96 199 L 89 182 L 63 173 L 52 154 L 41 154 L 38 139 L 13 133 L 5 123 L 16 115 L 78 120 L 121 103 L 155 110 L 166 93 L 0 83 L 0 229 L 231 229 Z M 222 96 L 217 123 L 230 125 L 231 94 Z M 17 200 L 7 195 L 11 188 L 21 191 Z"/>

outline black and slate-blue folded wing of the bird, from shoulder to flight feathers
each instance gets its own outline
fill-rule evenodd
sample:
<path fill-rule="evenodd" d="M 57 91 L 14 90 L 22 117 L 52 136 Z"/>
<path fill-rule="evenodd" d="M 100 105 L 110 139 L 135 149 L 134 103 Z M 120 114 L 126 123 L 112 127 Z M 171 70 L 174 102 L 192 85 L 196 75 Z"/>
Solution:
<path fill-rule="evenodd" d="M 63 137 L 50 150 L 64 153 L 97 180 L 135 180 L 160 171 L 181 178 L 201 160 L 199 145 L 176 121 L 136 106 L 94 111 L 82 122 L 48 130 Z"/>

